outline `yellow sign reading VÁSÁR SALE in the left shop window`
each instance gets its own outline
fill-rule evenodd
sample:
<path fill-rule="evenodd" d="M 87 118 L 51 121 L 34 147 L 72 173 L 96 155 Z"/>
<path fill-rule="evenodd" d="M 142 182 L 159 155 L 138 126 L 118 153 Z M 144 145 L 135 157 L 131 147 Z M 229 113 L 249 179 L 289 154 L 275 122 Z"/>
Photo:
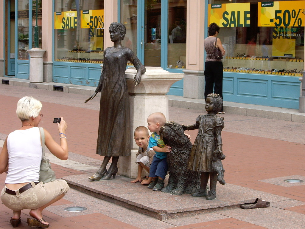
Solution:
<path fill-rule="evenodd" d="M 54 13 L 54 29 L 73 29 L 77 26 L 77 11 Z"/>

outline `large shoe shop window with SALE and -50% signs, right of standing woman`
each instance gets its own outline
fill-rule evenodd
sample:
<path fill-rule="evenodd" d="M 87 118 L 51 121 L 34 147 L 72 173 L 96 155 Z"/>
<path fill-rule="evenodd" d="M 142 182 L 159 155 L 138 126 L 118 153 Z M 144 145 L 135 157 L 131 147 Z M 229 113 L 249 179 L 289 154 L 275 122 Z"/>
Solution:
<path fill-rule="evenodd" d="M 224 71 L 301 76 L 304 1 L 209 0 L 208 23 L 226 49 Z"/>

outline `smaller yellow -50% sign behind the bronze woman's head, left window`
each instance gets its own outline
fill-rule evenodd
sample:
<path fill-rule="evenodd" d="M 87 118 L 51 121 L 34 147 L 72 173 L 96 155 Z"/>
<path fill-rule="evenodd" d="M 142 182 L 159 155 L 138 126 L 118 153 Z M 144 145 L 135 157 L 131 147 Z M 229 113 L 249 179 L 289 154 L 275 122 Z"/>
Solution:
<path fill-rule="evenodd" d="M 81 28 L 104 28 L 104 10 L 83 10 L 81 13 Z"/>

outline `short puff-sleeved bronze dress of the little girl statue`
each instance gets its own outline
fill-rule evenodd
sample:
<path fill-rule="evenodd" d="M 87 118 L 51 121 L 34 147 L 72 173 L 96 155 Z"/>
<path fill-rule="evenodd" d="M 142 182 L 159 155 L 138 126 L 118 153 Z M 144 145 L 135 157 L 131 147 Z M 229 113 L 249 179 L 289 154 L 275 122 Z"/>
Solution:
<path fill-rule="evenodd" d="M 206 114 L 196 118 L 196 124 L 188 126 L 188 129 L 198 129 L 198 135 L 191 150 L 188 160 L 188 169 L 200 172 L 212 172 L 212 158 L 217 145 L 221 144 L 221 135 L 217 129 L 224 128 L 224 118 Z"/>

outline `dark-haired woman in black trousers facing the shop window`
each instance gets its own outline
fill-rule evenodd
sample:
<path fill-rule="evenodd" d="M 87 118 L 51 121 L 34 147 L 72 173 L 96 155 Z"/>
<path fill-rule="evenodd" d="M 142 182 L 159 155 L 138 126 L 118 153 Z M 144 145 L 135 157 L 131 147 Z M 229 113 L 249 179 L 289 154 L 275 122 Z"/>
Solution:
<path fill-rule="evenodd" d="M 219 26 L 216 23 L 211 23 L 208 32 L 209 37 L 204 39 L 204 49 L 206 50 L 206 62 L 204 64 L 205 90 L 204 99 L 208 94 L 215 93 L 222 96 L 222 75 L 223 65 L 221 60 L 215 59 L 215 38 L 219 34 Z M 217 38 L 216 45 L 222 55 L 226 53 L 222 47 L 221 41 Z M 219 114 L 224 114 L 224 106 L 221 107 Z"/>

